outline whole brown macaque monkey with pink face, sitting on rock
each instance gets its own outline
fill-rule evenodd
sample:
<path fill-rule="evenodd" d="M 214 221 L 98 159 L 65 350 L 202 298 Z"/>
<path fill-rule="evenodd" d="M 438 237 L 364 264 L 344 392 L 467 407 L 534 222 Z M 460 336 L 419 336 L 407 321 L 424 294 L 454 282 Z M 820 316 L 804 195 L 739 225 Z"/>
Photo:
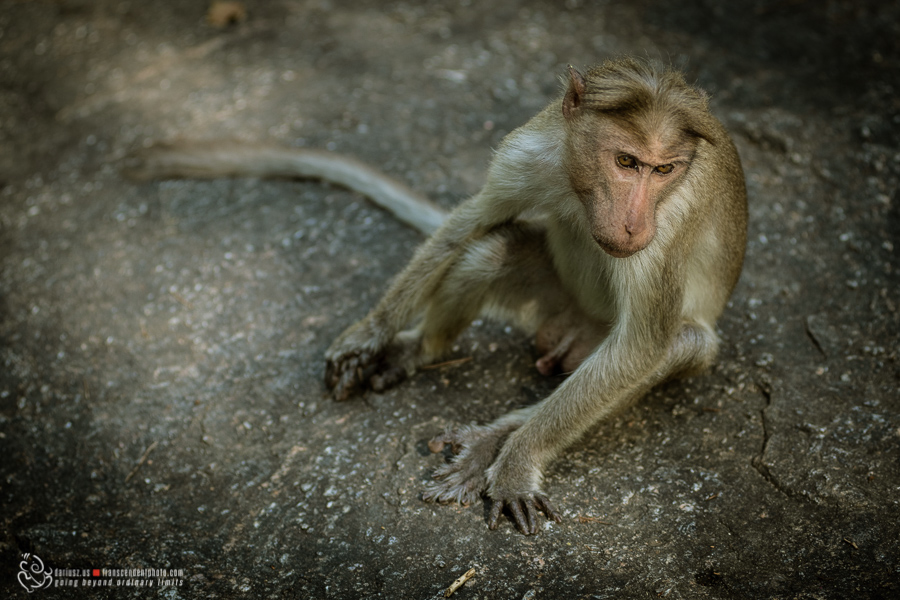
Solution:
<path fill-rule="evenodd" d="M 430 233 L 377 305 L 326 351 L 336 400 L 396 385 L 480 316 L 535 337 L 538 371 L 566 378 L 534 405 L 435 436 L 429 449 L 449 445 L 452 458 L 422 495 L 463 505 L 486 496 L 490 529 L 506 513 L 526 535 L 538 532 L 540 513 L 562 520 L 542 485 L 551 461 L 657 384 L 713 363 L 715 323 L 747 238 L 740 159 L 704 91 L 633 58 L 584 73 L 570 66 L 563 79 L 564 92 L 503 139 L 482 189 L 449 214 L 404 189 L 405 208 L 376 198 L 357 180 L 385 178 L 367 168 L 348 181 L 286 167 L 276 152 L 228 170 L 209 152 L 187 151 L 216 163 L 194 175 L 323 177 Z M 318 156 L 294 152 L 304 163 Z M 266 167 L 249 173 L 253 162 Z M 191 174 L 177 171 L 168 174 Z M 410 213 L 426 215 L 425 225 Z"/>

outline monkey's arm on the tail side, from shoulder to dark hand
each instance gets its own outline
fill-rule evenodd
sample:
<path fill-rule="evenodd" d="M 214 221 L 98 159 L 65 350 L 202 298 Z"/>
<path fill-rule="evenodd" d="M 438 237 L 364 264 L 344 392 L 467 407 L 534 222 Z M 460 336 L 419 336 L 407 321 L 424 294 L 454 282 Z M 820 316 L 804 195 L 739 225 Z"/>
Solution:
<path fill-rule="evenodd" d="M 523 213 L 540 209 L 542 203 L 553 204 L 569 192 L 559 162 L 562 126 L 553 124 L 554 119 L 559 120 L 545 110 L 507 136 L 491 162 L 484 188 L 450 213 L 440 229 L 419 247 L 378 305 L 331 345 L 325 353 L 325 382 L 336 399 L 345 399 L 373 381 L 373 370 L 383 367 L 379 363 L 388 346 L 398 341 L 403 328 L 434 299 L 470 242 Z M 392 374 L 385 380 L 396 381 L 422 361 L 434 358 L 439 353 L 437 346 L 445 341 L 425 340 L 419 347 L 418 340 L 411 340 L 399 351 L 403 358 L 395 359 L 401 364 L 390 366 Z M 379 389 L 378 385 L 372 387 Z"/>

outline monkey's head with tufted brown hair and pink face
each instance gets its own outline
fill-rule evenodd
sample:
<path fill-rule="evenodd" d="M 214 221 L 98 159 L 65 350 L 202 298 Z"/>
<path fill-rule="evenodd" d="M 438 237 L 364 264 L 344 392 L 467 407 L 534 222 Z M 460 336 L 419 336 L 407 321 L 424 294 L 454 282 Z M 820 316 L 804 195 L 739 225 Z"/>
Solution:
<path fill-rule="evenodd" d="M 657 209 L 677 188 L 699 144 L 714 143 L 707 96 L 680 73 L 633 59 L 581 75 L 569 67 L 562 101 L 566 168 L 591 234 L 625 258 L 656 235 Z"/>

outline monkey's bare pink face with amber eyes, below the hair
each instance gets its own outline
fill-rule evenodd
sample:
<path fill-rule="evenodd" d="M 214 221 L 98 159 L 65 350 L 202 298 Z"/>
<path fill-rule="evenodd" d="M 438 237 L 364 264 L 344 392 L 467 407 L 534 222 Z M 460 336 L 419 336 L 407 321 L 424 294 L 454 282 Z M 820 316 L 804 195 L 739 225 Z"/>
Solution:
<path fill-rule="evenodd" d="M 573 132 L 570 140 L 572 187 L 594 240 L 615 258 L 653 241 L 657 208 L 682 179 L 696 148 L 685 136 L 652 133 L 607 121 Z"/>

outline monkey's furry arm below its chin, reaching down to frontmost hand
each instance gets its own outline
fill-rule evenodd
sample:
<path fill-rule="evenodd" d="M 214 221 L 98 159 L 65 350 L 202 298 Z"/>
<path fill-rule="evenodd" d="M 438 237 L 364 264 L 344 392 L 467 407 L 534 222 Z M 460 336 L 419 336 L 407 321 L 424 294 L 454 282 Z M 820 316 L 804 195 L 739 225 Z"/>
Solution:
<path fill-rule="evenodd" d="M 539 510 L 559 521 L 541 487 L 544 468 L 594 424 L 707 351 L 706 334 L 697 335 L 702 328 L 680 322 L 678 286 L 661 279 L 673 278 L 653 277 L 649 284 L 632 280 L 639 289 L 630 290 L 628 306 L 594 353 L 548 398 L 489 426 L 515 428 L 487 470 L 491 529 L 504 509 L 525 534 L 537 532 Z M 661 286 L 656 291 L 652 280 Z"/>

